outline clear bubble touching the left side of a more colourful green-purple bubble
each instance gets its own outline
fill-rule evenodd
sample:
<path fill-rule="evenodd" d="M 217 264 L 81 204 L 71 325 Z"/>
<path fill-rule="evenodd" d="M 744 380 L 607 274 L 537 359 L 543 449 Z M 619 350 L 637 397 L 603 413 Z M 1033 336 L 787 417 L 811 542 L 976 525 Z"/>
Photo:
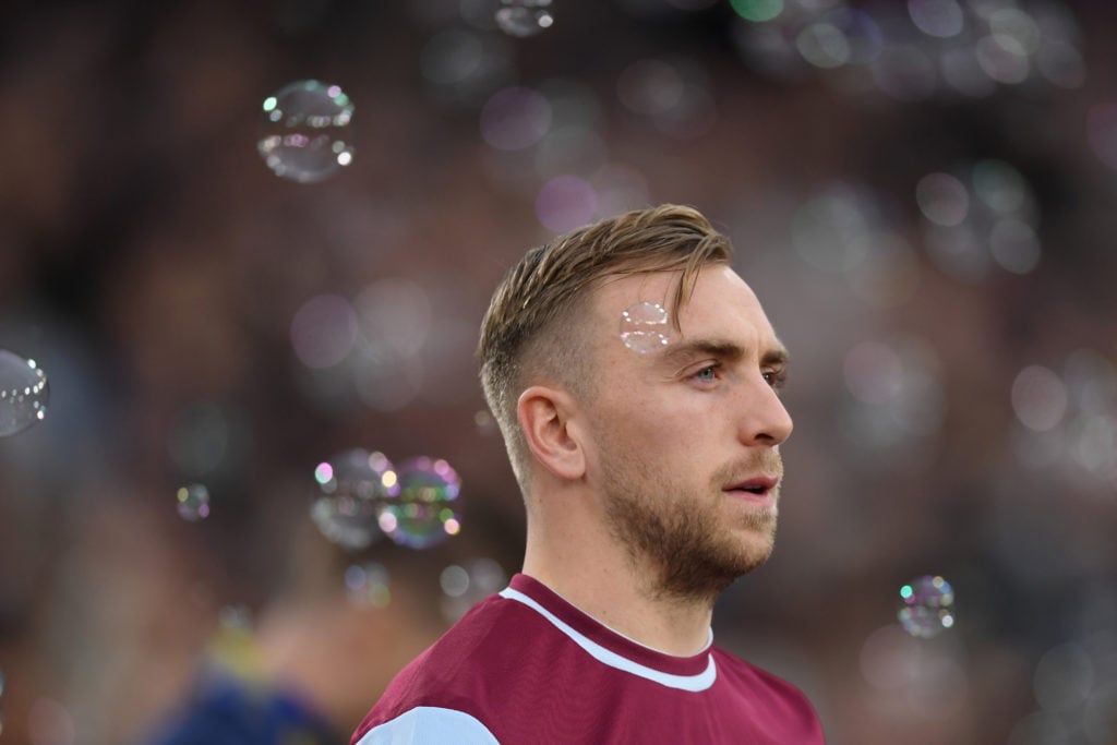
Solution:
<path fill-rule="evenodd" d="M 327 539 L 360 550 L 380 537 L 379 504 L 400 494 L 395 469 L 383 453 L 347 450 L 318 464 L 314 480 L 318 496 L 311 518 Z"/>

